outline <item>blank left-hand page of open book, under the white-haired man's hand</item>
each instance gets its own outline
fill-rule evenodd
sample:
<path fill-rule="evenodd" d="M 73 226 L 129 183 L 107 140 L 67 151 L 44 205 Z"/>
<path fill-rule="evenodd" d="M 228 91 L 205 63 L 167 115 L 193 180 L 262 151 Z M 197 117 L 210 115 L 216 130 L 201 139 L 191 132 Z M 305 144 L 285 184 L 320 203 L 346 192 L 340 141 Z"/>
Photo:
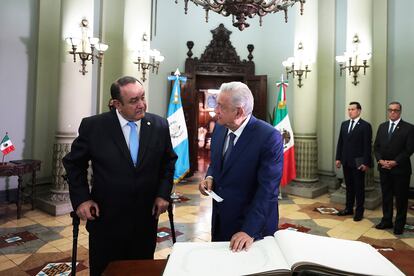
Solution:
<path fill-rule="evenodd" d="M 232 252 L 230 242 L 177 242 L 164 276 L 231 276 L 270 270 L 290 271 L 273 237 L 254 242 L 248 251 Z"/>

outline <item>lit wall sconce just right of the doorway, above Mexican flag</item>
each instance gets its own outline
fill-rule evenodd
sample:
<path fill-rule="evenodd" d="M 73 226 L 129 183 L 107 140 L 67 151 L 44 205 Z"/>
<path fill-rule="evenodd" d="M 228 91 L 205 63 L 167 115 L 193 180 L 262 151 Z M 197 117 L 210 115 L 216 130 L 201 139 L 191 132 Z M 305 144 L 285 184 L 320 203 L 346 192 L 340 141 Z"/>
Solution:
<path fill-rule="evenodd" d="M 295 78 L 295 76 L 298 77 L 298 86 L 300 88 L 303 86 L 302 84 L 303 74 L 305 74 L 305 78 L 307 78 L 308 73 L 311 72 L 311 70 L 309 70 L 310 63 L 311 63 L 310 59 L 305 56 L 305 53 L 303 51 L 302 42 L 299 42 L 296 55 L 294 57 L 290 57 L 287 60 L 283 61 L 282 65 L 286 68 L 286 75 L 288 79 L 289 79 L 289 74 L 292 74 L 293 78 Z"/>

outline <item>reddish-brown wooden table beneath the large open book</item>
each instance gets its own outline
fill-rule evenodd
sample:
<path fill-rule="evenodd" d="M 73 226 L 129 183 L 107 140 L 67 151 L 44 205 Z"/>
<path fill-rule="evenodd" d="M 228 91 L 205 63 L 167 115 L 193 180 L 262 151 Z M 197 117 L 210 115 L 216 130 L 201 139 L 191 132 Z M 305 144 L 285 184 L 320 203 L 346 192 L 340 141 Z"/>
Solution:
<path fill-rule="evenodd" d="M 414 250 L 379 251 L 406 275 L 414 275 Z M 102 275 L 161 276 L 167 260 L 132 260 L 111 262 Z"/>

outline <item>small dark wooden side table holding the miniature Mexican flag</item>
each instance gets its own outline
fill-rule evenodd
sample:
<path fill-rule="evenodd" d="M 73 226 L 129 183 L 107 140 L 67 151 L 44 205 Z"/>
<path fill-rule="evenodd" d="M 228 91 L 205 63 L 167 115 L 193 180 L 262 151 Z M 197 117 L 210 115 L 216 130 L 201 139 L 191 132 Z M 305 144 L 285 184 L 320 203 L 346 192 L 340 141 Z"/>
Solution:
<path fill-rule="evenodd" d="M 32 210 L 34 209 L 34 197 L 36 195 L 36 171 L 40 170 L 40 163 L 40 160 L 23 159 L 0 164 L 0 176 L 17 176 L 17 219 L 21 217 L 22 212 L 23 175 L 28 173 L 32 174 L 32 191 L 30 193 L 30 199 L 32 203 Z"/>

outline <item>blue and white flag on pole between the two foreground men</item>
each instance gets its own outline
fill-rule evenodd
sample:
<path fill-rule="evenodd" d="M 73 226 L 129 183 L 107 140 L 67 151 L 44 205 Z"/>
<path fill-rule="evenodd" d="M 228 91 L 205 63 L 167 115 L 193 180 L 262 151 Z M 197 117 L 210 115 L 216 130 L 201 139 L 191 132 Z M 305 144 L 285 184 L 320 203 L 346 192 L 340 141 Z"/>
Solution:
<path fill-rule="evenodd" d="M 168 80 L 173 80 L 174 84 L 171 91 L 170 104 L 168 105 L 167 120 L 170 126 L 171 143 L 178 156 L 174 172 L 174 184 L 177 184 L 190 170 L 190 155 L 187 126 L 180 95 L 180 81 L 185 82 L 187 78 L 180 76 L 178 69 L 174 75 L 168 77 Z"/>

